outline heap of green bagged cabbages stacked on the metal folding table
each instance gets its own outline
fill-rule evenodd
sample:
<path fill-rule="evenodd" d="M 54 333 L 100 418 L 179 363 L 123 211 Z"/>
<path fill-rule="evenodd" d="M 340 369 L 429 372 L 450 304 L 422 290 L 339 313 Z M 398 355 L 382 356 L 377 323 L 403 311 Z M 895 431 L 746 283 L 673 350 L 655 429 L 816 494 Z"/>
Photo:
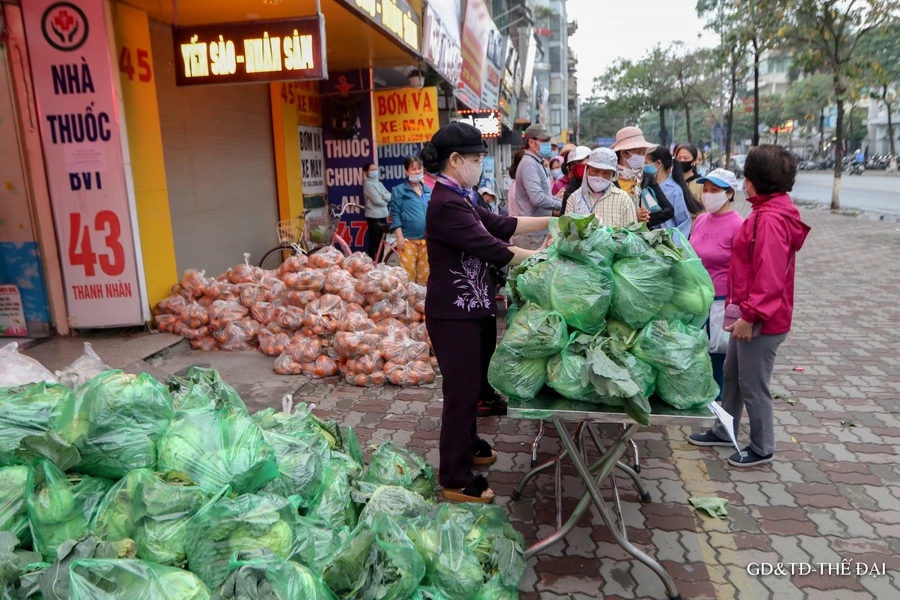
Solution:
<path fill-rule="evenodd" d="M 551 221 L 552 242 L 507 279 L 507 331 L 488 377 L 501 393 L 544 386 L 649 424 L 651 396 L 678 409 L 718 395 L 704 325 L 712 280 L 680 232 Z M 678 236 L 678 244 L 671 235 Z"/>

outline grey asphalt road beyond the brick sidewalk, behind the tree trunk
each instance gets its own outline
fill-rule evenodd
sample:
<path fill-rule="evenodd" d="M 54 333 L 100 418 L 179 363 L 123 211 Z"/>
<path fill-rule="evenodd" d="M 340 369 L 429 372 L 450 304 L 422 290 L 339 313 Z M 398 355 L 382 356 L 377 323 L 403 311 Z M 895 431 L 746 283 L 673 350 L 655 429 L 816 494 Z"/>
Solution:
<path fill-rule="evenodd" d="M 831 173 L 798 173 L 791 197 L 831 204 Z M 841 207 L 900 215 L 900 177 L 863 173 L 841 179 Z"/>

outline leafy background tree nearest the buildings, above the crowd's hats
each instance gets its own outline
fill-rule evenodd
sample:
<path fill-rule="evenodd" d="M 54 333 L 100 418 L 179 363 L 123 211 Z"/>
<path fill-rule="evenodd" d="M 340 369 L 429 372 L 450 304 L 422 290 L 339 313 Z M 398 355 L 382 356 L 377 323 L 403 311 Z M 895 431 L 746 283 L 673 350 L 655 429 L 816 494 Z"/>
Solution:
<path fill-rule="evenodd" d="M 668 146 L 666 111 L 678 105 L 672 93 L 674 80 L 665 52 L 657 45 L 641 60 L 622 60 L 594 79 L 594 94 L 602 95 L 607 102 L 615 101 L 636 118 L 658 112 L 659 143 Z"/>

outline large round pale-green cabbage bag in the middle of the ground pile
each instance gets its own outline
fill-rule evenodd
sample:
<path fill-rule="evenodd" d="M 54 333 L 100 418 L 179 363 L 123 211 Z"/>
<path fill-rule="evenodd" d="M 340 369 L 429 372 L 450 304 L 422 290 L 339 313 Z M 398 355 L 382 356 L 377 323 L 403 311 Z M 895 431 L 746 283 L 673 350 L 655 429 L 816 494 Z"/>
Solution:
<path fill-rule="evenodd" d="M 159 470 L 187 473 L 210 493 L 226 485 L 238 494 L 252 493 L 279 475 L 262 429 L 221 400 L 178 411 L 159 441 Z"/>

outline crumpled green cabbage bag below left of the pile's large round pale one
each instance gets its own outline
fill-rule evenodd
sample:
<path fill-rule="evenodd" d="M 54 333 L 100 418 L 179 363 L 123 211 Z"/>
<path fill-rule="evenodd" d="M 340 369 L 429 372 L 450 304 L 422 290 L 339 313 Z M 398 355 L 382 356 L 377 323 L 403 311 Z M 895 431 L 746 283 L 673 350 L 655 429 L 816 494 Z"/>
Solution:
<path fill-rule="evenodd" d="M 91 529 L 111 542 L 133 539 L 138 558 L 182 567 L 187 523 L 208 500 L 186 475 L 135 469 L 106 494 Z"/>

